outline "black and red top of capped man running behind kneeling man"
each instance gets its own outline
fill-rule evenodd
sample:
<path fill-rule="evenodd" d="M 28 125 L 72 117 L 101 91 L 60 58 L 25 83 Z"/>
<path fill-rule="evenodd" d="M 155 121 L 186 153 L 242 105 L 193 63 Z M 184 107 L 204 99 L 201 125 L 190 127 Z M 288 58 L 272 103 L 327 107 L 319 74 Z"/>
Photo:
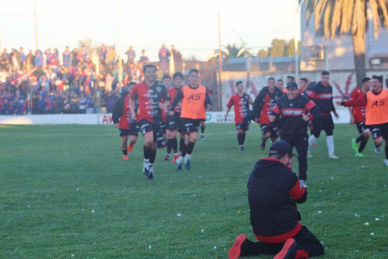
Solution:
<path fill-rule="evenodd" d="M 307 121 L 302 119 L 303 115 L 309 115 L 310 119 L 316 119 L 321 115 L 315 103 L 306 96 L 297 95 L 293 100 L 283 96 L 273 108 L 272 115 L 275 115 L 280 122 L 281 134 L 298 135 L 307 133 Z"/>

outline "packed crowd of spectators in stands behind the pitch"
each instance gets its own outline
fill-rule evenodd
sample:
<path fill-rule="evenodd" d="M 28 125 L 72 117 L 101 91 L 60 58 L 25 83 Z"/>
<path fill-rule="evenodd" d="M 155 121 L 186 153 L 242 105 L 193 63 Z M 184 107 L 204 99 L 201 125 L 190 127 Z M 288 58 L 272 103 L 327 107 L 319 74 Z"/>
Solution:
<path fill-rule="evenodd" d="M 146 51 L 136 57 L 129 47 L 123 57 L 122 85 L 143 79 L 142 67 L 150 62 Z M 181 62 L 174 46 L 159 51 L 161 79 L 170 58 Z M 29 51 L 4 49 L 0 56 L 0 115 L 111 112 L 119 99 L 119 61 L 114 47 L 85 46 L 62 55 L 58 49 Z"/>

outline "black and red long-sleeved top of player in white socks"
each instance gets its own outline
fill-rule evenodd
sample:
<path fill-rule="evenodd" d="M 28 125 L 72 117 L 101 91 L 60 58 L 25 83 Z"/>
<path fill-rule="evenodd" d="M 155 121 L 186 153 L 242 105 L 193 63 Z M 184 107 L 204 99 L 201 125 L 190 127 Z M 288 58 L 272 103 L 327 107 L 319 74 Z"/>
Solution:
<path fill-rule="evenodd" d="M 305 93 L 314 100 L 322 115 L 329 115 L 331 111 L 335 113 L 333 89 L 329 84 L 325 86 L 319 81 L 314 87 L 306 90 Z"/>

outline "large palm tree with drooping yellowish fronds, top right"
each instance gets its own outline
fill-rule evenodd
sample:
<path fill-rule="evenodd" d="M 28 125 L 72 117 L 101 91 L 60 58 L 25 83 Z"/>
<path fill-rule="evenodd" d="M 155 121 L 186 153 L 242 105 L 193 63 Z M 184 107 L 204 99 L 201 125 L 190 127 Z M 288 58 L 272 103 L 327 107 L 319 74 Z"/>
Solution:
<path fill-rule="evenodd" d="M 388 29 L 388 0 L 299 0 L 306 6 L 307 22 L 315 15 L 315 30 L 326 39 L 341 34 L 351 34 L 357 83 L 366 76 L 365 34 L 368 25 L 367 9 L 370 7 L 374 37 L 380 26 Z"/>

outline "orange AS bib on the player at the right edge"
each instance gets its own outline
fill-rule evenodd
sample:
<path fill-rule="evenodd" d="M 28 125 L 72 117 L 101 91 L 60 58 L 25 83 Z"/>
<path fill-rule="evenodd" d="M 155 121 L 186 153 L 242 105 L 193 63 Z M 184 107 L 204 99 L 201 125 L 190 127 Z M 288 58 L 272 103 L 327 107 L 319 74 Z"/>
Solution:
<path fill-rule="evenodd" d="M 375 95 L 372 91 L 366 93 L 365 117 L 366 125 L 383 124 L 388 122 L 388 91 L 382 89 Z"/>

